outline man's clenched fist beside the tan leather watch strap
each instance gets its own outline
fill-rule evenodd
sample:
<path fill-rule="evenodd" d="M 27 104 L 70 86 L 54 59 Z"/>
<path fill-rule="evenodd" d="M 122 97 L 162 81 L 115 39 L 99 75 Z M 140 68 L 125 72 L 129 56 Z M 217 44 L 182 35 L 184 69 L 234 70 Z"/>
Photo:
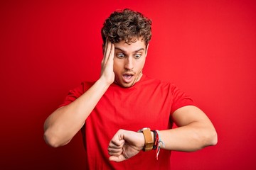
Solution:
<path fill-rule="evenodd" d="M 122 162 L 138 154 L 143 147 L 144 135 L 142 132 L 118 130 L 108 147 L 110 161 Z"/>

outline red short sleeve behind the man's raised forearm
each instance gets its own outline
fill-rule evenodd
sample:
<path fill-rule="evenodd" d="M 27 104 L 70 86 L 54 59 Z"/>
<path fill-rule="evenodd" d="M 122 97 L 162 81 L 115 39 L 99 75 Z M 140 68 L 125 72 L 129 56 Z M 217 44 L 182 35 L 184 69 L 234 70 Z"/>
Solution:
<path fill-rule="evenodd" d="M 67 106 L 68 104 L 72 103 L 73 101 L 75 101 L 75 99 L 82 96 L 82 94 L 84 94 L 85 91 L 87 91 L 87 89 L 90 89 L 91 86 L 92 86 L 92 83 L 82 82 L 80 86 L 68 92 L 68 95 L 65 97 L 63 103 L 60 104 L 58 108 Z"/>

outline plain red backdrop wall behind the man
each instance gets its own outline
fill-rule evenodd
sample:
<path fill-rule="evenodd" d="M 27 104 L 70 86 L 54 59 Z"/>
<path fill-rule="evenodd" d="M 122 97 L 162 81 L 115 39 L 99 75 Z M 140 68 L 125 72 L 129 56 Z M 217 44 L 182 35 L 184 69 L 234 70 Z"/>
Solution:
<path fill-rule="evenodd" d="M 117 8 L 153 21 L 144 73 L 193 96 L 218 131 L 215 147 L 173 152 L 172 168 L 255 169 L 253 0 L 1 1 L 0 169 L 84 169 L 80 133 L 54 149 L 43 122 L 69 89 L 99 77 L 100 28 Z"/>

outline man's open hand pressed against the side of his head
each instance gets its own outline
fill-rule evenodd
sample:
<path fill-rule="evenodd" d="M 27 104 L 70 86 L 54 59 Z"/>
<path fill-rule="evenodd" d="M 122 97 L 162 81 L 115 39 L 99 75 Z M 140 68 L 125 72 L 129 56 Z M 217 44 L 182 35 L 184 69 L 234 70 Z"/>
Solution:
<path fill-rule="evenodd" d="M 101 78 L 112 84 L 114 82 L 114 44 L 106 40 L 104 57 L 101 64 Z"/>

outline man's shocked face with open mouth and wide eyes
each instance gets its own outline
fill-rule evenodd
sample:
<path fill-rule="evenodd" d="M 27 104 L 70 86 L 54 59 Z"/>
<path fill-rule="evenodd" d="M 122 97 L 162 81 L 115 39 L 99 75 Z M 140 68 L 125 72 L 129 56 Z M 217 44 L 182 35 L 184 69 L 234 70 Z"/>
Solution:
<path fill-rule="evenodd" d="M 146 60 L 145 42 L 114 43 L 114 82 L 122 87 L 133 86 L 142 77 Z"/>

